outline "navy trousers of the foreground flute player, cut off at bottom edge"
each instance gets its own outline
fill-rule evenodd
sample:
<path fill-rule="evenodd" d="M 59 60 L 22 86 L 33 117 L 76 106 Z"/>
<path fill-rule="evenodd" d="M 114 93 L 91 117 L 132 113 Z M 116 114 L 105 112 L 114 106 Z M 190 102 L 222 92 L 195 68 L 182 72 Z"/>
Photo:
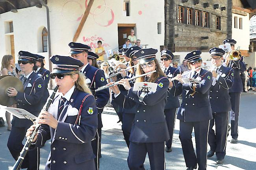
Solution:
<path fill-rule="evenodd" d="M 143 164 L 147 153 L 151 170 L 165 170 L 165 142 L 130 142 L 127 159 L 130 170 L 145 170 Z"/>

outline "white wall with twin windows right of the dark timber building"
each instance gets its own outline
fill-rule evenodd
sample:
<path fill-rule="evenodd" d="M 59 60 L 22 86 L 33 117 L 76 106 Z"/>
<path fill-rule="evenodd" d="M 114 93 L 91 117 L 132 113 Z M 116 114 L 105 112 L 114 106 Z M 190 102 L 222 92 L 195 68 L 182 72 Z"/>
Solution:
<path fill-rule="evenodd" d="M 234 18 L 237 17 L 237 28 L 235 28 Z M 242 18 L 242 29 L 239 29 L 239 18 Z M 247 16 L 232 13 L 232 39 L 236 40 L 235 49 L 240 46 L 240 50 L 249 50 L 250 45 L 250 20 Z"/>

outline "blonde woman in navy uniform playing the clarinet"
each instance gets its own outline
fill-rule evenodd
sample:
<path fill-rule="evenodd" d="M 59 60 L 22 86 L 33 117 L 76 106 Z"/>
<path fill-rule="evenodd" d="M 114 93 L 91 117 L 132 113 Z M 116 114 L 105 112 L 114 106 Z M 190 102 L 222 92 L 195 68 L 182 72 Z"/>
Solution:
<path fill-rule="evenodd" d="M 45 170 L 95 170 L 91 140 L 97 131 L 97 109 L 86 78 L 79 72 L 83 63 L 59 55 L 50 60 L 55 64 L 50 76 L 59 86 L 59 95 L 48 112 L 40 113 L 38 123 L 42 125 L 32 145 L 52 140 Z M 28 129 L 26 136 L 30 136 L 34 127 Z"/>

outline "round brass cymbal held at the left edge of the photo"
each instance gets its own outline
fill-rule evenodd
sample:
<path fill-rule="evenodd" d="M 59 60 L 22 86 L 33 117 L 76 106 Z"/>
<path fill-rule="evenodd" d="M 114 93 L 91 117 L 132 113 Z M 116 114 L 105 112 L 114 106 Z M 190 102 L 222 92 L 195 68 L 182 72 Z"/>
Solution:
<path fill-rule="evenodd" d="M 17 103 L 15 96 L 9 97 L 7 95 L 7 90 L 11 87 L 18 92 L 24 92 L 24 86 L 19 78 L 9 75 L 0 76 L 0 105 L 9 106 Z"/>

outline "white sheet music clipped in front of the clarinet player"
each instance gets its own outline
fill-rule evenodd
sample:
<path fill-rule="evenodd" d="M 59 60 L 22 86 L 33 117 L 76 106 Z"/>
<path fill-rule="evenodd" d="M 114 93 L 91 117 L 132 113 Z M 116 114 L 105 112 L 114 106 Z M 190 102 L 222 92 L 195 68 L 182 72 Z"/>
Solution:
<path fill-rule="evenodd" d="M 5 109 L 7 112 L 13 114 L 17 118 L 27 118 L 30 120 L 37 119 L 37 116 L 32 115 L 31 113 L 29 113 L 28 111 L 26 111 L 24 109 L 14 108 L 14 107 L 6 107 Z"/>

